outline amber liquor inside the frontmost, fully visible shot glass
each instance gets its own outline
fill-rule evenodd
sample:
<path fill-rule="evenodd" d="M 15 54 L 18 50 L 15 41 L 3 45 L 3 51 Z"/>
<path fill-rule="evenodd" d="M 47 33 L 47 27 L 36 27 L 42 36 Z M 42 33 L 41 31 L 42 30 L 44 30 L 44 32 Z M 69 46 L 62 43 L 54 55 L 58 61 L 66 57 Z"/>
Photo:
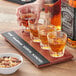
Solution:
<path fill-rule="evenodd" d="M 59 53 L 63 51 L 65 44 L 66 44 L 65 41 L 63 41 L 60 38 L 58 39 L 56 38 L 53 40 L 53 43 L 49 42 L 49 47 L 51 48 L 53 52 Z"/>

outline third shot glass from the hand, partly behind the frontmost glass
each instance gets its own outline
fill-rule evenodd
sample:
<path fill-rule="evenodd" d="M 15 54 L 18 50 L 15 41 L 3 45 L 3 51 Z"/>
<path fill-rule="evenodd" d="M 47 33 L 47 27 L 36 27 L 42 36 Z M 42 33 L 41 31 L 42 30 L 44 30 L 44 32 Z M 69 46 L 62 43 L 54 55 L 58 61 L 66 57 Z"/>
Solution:
<path fill-rule="evenodd" d="M 38 35 L 40 41 L 40 46 L 44 50 L 48 50 L 48 40 L 47 40 L 47 34 L 49 32 L 56 31 L 56 28 L 54 25 L 42 25 L 38 27 Z"/>

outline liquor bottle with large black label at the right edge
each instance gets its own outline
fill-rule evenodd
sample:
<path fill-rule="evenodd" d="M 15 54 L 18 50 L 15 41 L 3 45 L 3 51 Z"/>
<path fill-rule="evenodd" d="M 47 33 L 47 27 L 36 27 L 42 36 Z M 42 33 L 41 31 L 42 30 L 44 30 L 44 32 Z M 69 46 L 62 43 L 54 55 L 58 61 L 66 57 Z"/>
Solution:
<path fill-rule="evenodd" d="M 68 45 L 76 48 L 76 0 L 61 0 L 62 31 L 68 35 Z"/>

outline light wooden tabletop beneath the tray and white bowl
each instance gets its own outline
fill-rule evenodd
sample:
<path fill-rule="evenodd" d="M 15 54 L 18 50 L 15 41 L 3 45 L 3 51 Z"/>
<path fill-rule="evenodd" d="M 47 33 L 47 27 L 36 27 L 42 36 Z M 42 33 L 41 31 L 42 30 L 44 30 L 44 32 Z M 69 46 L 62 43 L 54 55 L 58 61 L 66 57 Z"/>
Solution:
<path fill-rule="evenodd" d="M 0 33 L 20 29 L 16 22 L 16 8 L 20 5 L 0 0 Z M 22 67 L 12 75 L 0 76 L 76 76 L 76 49 L 66 47 L 74 55 L 72 61 L 38 69 L 23 55 Z M 0 53 L 17 53 L 14 47 L 0 35 Z"/>

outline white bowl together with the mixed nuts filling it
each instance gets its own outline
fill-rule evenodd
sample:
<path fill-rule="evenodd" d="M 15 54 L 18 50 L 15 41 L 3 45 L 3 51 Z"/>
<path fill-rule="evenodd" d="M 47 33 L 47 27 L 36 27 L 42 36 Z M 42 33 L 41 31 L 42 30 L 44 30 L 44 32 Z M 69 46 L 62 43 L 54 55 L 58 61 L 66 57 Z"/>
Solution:
<path fill-rule="evenodd" d="M 15 53 L 0 54 L 0 74 L 12 74 L 22 65 L 22 56 Z"/>

